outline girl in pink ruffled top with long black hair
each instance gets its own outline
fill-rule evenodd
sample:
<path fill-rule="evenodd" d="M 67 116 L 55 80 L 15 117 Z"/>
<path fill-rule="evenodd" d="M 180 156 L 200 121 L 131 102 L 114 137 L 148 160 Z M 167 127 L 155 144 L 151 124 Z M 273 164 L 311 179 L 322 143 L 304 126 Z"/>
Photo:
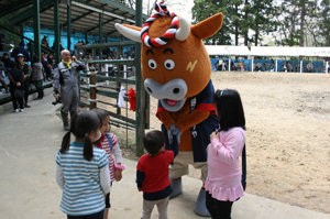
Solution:
<path fill-rule="evenodd" d="M 220 129 L 210 135 L 206 206 L 212 217 L 231 218 L 233 201 L 244 196 L 240 155 L 245 143 L 245 117 L 237 90 L 217 90 L 213 96 Z"/>

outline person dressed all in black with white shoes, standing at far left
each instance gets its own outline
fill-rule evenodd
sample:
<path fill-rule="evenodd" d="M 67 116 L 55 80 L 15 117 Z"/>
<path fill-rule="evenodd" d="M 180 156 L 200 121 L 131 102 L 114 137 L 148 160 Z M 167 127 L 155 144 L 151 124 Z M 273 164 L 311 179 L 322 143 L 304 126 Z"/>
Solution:
<path fill-rule="evenodd" d="M 22 70 L 16 68 L 16 64 L 14 61 L 10 61 L 9 63 L 10 70 L 8 72 L 8 78 L 10 80 L 10 92 L 13 105 L 13 112 L 24 112 L 24 102 L 23 97 L 15 97 L 15 90 L 24 90 L 24 74 Z M 18 101 L 20 105 L 20 110 L 18 107 Z"/>

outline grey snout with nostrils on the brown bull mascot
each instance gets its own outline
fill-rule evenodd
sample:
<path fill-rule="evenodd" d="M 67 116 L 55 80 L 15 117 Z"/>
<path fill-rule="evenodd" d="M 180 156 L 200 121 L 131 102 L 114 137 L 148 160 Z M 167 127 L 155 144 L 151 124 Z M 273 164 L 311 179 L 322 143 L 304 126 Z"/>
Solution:
<path fill-rule="evenodd" d="M 185 98 L 188 86 L 183 79 L 173 79 L 161 85 L 152 78 L 144 80 L 145 90 L 156 99 L 182 100 Z"/>

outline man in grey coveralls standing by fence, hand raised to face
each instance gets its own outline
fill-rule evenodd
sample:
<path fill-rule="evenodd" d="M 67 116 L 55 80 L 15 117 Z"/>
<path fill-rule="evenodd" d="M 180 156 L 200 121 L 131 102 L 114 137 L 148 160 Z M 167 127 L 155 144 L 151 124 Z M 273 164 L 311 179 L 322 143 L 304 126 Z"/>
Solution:
<path fill-rule="evenodd" d="M 79 70 L 86 69 L 85 63 L 77 61 L 76 56 L 70 57 L 70 52 L 64 50 L 61 52 L 62 62 L 54 70 L 53 87 L 55 99 L 62 99 L 61 116 L 64 130 L 68 131 L 68 112 L 74 117 L 78 109 L 79 90 L 77 85 L 77 75 Z"/>

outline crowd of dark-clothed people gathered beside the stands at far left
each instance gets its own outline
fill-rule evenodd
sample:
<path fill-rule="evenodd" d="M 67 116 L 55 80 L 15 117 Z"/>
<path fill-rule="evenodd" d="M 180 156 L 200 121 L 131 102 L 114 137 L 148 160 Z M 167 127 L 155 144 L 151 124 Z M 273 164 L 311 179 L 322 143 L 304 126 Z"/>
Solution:
<path fill-rule="evenodd" d="M 23 112 L 25 108 L 31 108 L 29 95 L 33 85 L 37 90 L 35 100 L 43 99 L 43 81 L 52 80 L 54 64 L 52 54 L 42 53 L 41 58 L 38 56 L 31 58 L 24 42 L 10 54 L 3 53 L 0 62 L 0 83 L 4 91 L 0 90 L 0 95 L 11 95 L 13 112 Z M 9 79 L 9 86 L 4 78 Z"/>

